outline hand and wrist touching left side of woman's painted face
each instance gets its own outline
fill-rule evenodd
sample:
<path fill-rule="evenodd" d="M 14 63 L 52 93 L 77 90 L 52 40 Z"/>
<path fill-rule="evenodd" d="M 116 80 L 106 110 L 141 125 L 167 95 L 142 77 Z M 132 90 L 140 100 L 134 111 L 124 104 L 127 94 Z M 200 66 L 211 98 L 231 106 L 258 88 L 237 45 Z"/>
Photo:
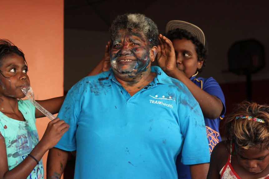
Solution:
<path fill-rule="evenodd" d="M 105 45 L 105 55 L 103 59 L 95 66 L 95 68 L 87 75 L 87 76 L 93 76 L 97 75 L 99 73 L 108 71 L 110 68 L 110 55 L 109 51 L 111 49 L 110 41 L 107 42 L 107 45 Z"/>

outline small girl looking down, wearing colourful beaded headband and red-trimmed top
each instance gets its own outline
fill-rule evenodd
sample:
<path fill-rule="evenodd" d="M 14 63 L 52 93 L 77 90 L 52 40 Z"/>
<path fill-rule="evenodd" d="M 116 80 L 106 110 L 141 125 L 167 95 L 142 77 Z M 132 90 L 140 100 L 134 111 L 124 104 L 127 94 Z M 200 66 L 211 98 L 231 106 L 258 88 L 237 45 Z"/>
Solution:
<path fill-rule="evenodd" d="M 269 106 L 243 101 L 225 117 L 227 140 L 212 151 L 207 179 L 269 179 Z"/>

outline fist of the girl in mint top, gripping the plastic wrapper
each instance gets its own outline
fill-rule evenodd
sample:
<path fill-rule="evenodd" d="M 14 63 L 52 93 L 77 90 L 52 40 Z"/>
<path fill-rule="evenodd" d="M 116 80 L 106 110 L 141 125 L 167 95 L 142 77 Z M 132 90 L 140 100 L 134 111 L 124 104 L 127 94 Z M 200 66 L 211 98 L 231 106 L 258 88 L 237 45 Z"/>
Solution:
<path fill-rule="evenodd" d="M 58 117 L 55 118 L 48 123 L 47 129 L 40 142 L 44 141 L 47 149 L 53 148 L 69 127 L 69 124 L 64 120 L 60 120 Z"/>

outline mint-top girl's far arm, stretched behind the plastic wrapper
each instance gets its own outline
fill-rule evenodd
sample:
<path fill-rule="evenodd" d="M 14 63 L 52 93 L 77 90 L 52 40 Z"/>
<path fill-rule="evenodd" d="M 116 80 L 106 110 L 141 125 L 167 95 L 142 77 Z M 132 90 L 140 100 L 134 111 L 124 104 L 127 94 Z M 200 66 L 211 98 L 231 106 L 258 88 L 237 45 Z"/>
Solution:
<path fill-rule="evenodd" d="M 60 111 L 61 106 L 64 102 L 65 96 L 55 97 L 47 100 L 36 100 L 42 107 L 48 110 L 51 114 L 56 114 Z M 36 109 L 36 118 L 45 117 L 45 115 Z"/>

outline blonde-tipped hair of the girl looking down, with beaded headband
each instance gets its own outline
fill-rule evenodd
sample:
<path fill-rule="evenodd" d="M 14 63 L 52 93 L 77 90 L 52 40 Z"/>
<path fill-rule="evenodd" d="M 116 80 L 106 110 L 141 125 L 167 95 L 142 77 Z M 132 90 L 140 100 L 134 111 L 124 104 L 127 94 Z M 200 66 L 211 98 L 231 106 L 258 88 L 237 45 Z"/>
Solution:
<path fill-rule="evenodd" d="M 238 116 L 250 116 L 247 118 Z M 250 120 L 258 118 L 257 120 Z M 237 145 L 238 149 L 251 147 L 269 147 L 269 106 L 243 101 L 230 115 L 225 116 L 226 137 Z"/>

